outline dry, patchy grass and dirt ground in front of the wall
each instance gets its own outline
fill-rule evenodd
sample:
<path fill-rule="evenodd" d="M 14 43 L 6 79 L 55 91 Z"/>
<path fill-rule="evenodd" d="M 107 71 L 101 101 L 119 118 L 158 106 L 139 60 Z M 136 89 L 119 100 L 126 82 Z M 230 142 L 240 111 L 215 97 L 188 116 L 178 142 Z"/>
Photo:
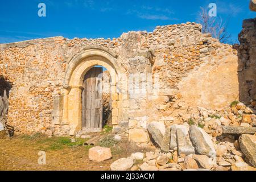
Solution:
<path fill-rule="evenodd" d="M 130 155 L 131 151 L 123 151 L 122 144 L 112 146 L 113 158 L 96 163 L 88 158 L 89 146 L 83 146 L 86 139 L 71 143 L 71 138 L 65 137 L 14 137 L 0 139 L 0 171 L 6 170 L 77 170 L 103 171 L 110 170 L 110 164 L 115 160 Z M 113 145 L 106 141 L 105 145 Z M 123 144 L 125 146 L 125 144 Z M 134 149 L 134 151 L 137 149 Z M 38 164 L 39 151 L 46 152 L 46 165 Z"/>

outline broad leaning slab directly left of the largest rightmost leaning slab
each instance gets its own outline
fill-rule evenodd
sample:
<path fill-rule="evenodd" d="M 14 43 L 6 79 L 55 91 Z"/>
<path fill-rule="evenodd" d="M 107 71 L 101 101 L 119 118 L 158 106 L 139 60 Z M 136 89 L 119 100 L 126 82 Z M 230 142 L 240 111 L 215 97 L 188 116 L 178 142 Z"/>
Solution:
<path fill-rule="evenodd" d="M 195 148 L 193 147 L 191 140 L 188 137 L 188 131 L 184 129 L 176 130 L 177 137 L 177 151 L 179 155 L 195 154 Z"/>

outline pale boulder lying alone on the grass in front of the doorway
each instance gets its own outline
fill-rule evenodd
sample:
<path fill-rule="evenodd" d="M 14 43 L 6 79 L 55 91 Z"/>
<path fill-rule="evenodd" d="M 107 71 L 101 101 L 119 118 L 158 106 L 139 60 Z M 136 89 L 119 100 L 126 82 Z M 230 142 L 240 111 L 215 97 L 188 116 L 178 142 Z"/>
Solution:
<path fill-rule="evenodd" d="M 112 158 L 110 148 L 93 147 L 89 149 L 89 159 L 94 162 L 102 162 Z"/>

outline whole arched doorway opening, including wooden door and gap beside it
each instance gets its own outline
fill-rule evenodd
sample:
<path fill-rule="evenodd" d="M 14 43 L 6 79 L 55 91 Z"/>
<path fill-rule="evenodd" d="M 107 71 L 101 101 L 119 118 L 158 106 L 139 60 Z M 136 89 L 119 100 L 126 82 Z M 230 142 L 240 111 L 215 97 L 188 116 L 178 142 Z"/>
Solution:
<path fill-rule="evenodd" d="M 100 132 L 112 125 L 110 72 L 95 65 L 86 72 L 82 90 L 82 131 Z"/>

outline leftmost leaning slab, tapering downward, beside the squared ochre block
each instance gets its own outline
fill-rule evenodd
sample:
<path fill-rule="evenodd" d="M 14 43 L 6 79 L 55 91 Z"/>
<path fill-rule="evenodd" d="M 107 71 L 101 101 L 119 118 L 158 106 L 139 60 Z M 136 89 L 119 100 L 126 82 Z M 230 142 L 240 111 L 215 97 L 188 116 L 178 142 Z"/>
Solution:
<path fill-rule="evenodd" d="M 166 126 L 162 122 L 151 122 L 147 124 L 147 130 L 151 134 L 155 143 L 161 146 Z"/>

